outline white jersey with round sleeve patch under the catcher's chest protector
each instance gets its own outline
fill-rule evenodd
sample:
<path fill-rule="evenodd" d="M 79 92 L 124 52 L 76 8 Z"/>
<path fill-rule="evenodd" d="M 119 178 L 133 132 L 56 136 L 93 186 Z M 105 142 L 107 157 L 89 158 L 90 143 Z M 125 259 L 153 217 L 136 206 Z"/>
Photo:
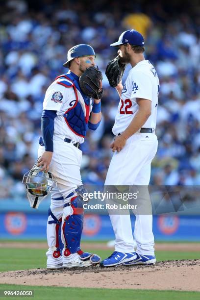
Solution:
<path fill-rule="evenodd" d="M 47 89 L 47 92 L 45 94 L 45 99 L 43 102 L 43 109 L 47 110 L 56 110 L 57 111 L 57 117 L 54 119 L 54 132 L 53 136 L 59 135 L 62 136 L 63 139 L 65 137 L 73 140 L 75 143 L 83 143 L 84 138 L 81 136 L 78 136 L 75 134 L 71 128 L 67 125 L 65 122 L 65 118 L 63 117 L 63 114 L 66 113 L 66 111 L 69 108 L 72 108 L 75 105 L 76 102 L 76 95 L 75 90 L 73 87 L 65 87 L 57 82 L 59 81 L 66 81 L 66 83 L 71 84 L 72 82 L 70 80 L 67 80 L 66 78 L 58 78 L 54 82 L 51 83 L 49 88 Z M 90 106 L 88 106 L 88 109 L 86 109 L 84 99 L 81 95 L 81 93 L 76 89 L 78 101 L 81 104 L 81 107 L 84 111 L 84 114 L 86 118 L 89 118 L 89 115 L 92 110 L 92 99 L 90 99 Z"/>

